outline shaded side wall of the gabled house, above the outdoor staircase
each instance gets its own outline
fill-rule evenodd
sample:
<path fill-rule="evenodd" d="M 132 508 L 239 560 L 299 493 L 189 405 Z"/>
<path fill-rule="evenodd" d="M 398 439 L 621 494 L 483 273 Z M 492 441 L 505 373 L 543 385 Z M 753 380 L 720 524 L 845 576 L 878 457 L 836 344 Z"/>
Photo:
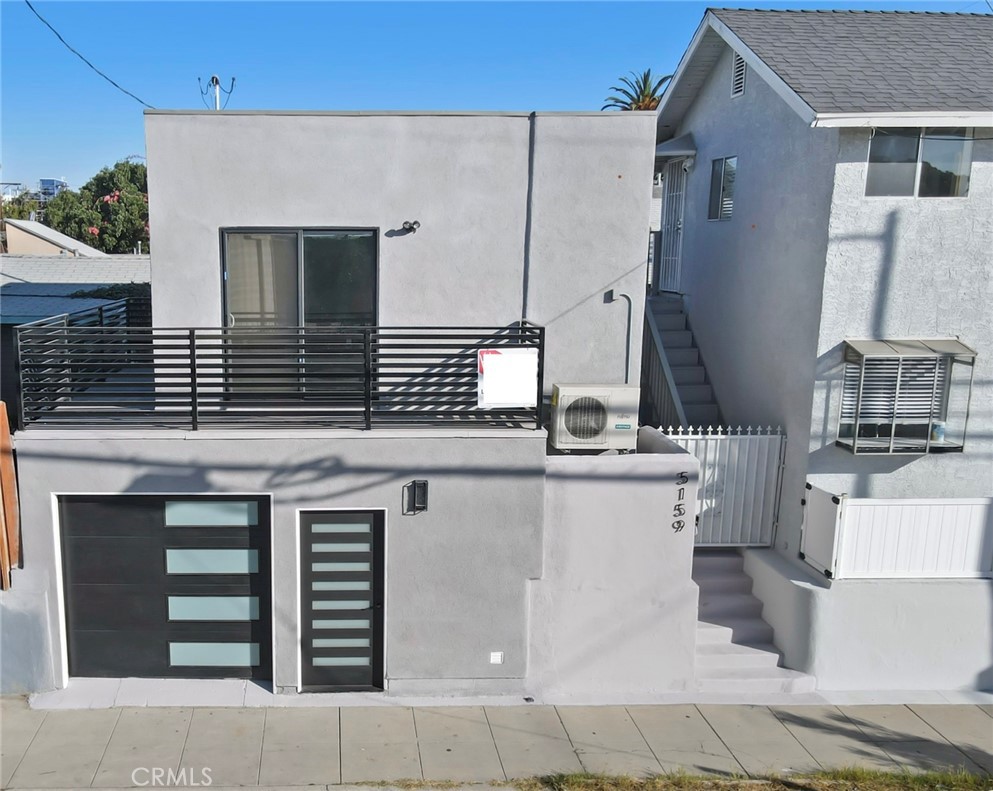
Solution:
<path fill-rule="evenodd" d="M 786 430 L 779 537 L 795 553 L 838 133 L 804 124 L 752 71 L 732 99 L 731 60 L 725 49 L 675 133 L 697 145 L 681 286 L 725 420 Z M 711 162 L 730 156 L 732 217 L 708 220 Z"/>

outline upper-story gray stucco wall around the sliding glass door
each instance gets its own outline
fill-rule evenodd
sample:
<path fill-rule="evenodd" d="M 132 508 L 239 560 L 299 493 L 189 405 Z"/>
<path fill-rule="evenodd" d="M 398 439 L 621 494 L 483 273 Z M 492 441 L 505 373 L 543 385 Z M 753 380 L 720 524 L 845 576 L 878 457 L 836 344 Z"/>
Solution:
<path fill-rule="evenodd" d="M 654 114 L 145 119 L 156 325 L 221 325 L 222 228 L 375 228 L 381 325 L 516 321 L 529 259 L 547 388 L 624 381 L 627 312 L 603 292 L 630 294 L 640 318 Z M 391 233 L 405 220 L 419 230 Z M 640 340 L 632 333 L 633 382 Z"/>

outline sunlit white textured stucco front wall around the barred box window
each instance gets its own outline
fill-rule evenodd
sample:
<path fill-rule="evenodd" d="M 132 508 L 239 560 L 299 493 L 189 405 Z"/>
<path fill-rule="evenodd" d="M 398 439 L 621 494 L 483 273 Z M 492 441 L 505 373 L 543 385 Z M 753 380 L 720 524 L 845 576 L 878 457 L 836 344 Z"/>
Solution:
<path fill-rule="evenodd" d="M 841 134 L 809 449 L 809 478 L 822 489 L 853 497 L 993 494 L 993 129 L 974 134 L 964 198 L 865 197 L 869 132 Z M 853 456 L 834 446 L 846 338 L 955 336 L 979 353 L 964 453 Z"/>

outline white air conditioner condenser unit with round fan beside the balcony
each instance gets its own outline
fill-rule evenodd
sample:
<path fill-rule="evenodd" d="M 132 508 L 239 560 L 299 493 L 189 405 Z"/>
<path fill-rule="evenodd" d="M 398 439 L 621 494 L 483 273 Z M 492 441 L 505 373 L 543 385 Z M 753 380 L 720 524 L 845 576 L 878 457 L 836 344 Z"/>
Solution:
<path fill-rule="evenodd" d="M 558 450 L 634 450 L 637 385 L 554 385 L 551 443 Z"/>

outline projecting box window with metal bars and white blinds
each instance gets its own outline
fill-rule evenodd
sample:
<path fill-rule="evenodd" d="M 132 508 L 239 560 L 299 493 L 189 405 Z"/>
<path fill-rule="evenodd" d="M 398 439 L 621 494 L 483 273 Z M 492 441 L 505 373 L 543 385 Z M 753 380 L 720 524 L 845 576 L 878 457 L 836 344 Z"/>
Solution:
<path fill-rule="evenodd" d="M 928 343 L 846 344 L 838 445 L 859 454 L 962 450 L 975 353 L 958 341 L 930 342 L 937 351 Z M 969 370 L 964 400 L 953 377 L 957 362 Z"/>

